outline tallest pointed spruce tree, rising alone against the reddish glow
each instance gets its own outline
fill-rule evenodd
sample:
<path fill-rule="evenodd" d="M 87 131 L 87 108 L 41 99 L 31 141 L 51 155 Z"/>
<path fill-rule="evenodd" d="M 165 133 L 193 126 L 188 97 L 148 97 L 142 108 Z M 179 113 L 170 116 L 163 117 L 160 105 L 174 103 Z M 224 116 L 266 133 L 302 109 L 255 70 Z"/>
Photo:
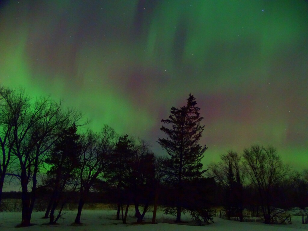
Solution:
<path fill-rule="evenodd" d="M 176 189 L 176 195 L 174 195 L 176 222 L 181 221 L 181 209 L 185 204 L 184 182 L 201 178 L 206 171 L 202 169 L 201 159 L 207 147 L 198 144 L 204 130 L 204 125 L 200 125 L 203 117 L 200 117 L 200 107 L 196 105 L 195 98 L 189 94 L 186 106 L 180 109 L 172 107 L 169 119 L 161 120 L 164 124 L 172 125 L 172 128 L 164 126 L 160 128 L 167 138 L 159 138 L 158 143 L 170 156 L 164 165 L 167 173 L 166 180 Z"/>

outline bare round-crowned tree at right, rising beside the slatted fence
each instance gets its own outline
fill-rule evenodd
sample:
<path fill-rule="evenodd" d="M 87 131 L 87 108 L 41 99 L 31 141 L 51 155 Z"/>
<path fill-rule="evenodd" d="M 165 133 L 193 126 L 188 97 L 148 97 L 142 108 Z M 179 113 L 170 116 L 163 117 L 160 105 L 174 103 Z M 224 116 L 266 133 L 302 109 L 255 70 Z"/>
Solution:
<path fill-rule="evenodd" d="M 248 179 L 259 193 L 259 202 L 265 223 L 270 224 L 275 207 L 275 185 L 286 179 L 290 169 L 284 165 L 275 148 L 252 145 L 244 149 L 245 169 Z"/>

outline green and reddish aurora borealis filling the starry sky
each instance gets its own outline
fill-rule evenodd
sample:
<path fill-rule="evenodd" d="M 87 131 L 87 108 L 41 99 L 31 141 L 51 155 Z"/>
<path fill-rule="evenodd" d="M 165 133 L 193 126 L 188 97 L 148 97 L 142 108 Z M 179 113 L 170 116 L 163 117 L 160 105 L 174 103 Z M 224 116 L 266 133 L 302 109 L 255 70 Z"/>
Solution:
<path fill-rule="evenodd" d="M 308 2 L 6 1 L 0 83 L 147 140 L 191 92 L 205 166 L 251 144 L 308 162 Z"/>

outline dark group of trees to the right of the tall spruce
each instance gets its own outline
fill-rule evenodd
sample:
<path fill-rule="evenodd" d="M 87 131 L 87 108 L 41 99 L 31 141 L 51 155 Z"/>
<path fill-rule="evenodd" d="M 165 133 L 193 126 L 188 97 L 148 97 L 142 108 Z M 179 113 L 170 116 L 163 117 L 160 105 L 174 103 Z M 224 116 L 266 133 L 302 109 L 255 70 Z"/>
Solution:
<path fill-rule="evenodd" d="M 252 145 L 242 155 L 231 151 L 209 168 L 223 192 L 220 201 L 229 219 L 240 217 L 242 221 L 246 208 L 271 224 L 275 216 L 308 205 L 306 171 L 291 171 L 272 146 Z"/>

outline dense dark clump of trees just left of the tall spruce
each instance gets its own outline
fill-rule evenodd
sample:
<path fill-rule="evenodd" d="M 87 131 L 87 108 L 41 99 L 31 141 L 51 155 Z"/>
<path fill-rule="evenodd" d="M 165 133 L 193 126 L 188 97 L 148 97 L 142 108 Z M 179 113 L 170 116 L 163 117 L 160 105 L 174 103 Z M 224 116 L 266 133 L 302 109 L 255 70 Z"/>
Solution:
<path fill-rule="evenodd" d="M 133 203 L 137 222 L 141 222 L 153 197 L 153 180 L 155 179 L 155 157 L 142 140 L 129 139 L 128 135 L 120 136 L 110 156 L 110 167 L 106 178 L 117 195 L 117 219 L 123 205 Z M 139 204 L 143 202 L 144 211 L 140 213 Z M 122 212 L 122 221 L 126 222 L 127 214 Z"/>

